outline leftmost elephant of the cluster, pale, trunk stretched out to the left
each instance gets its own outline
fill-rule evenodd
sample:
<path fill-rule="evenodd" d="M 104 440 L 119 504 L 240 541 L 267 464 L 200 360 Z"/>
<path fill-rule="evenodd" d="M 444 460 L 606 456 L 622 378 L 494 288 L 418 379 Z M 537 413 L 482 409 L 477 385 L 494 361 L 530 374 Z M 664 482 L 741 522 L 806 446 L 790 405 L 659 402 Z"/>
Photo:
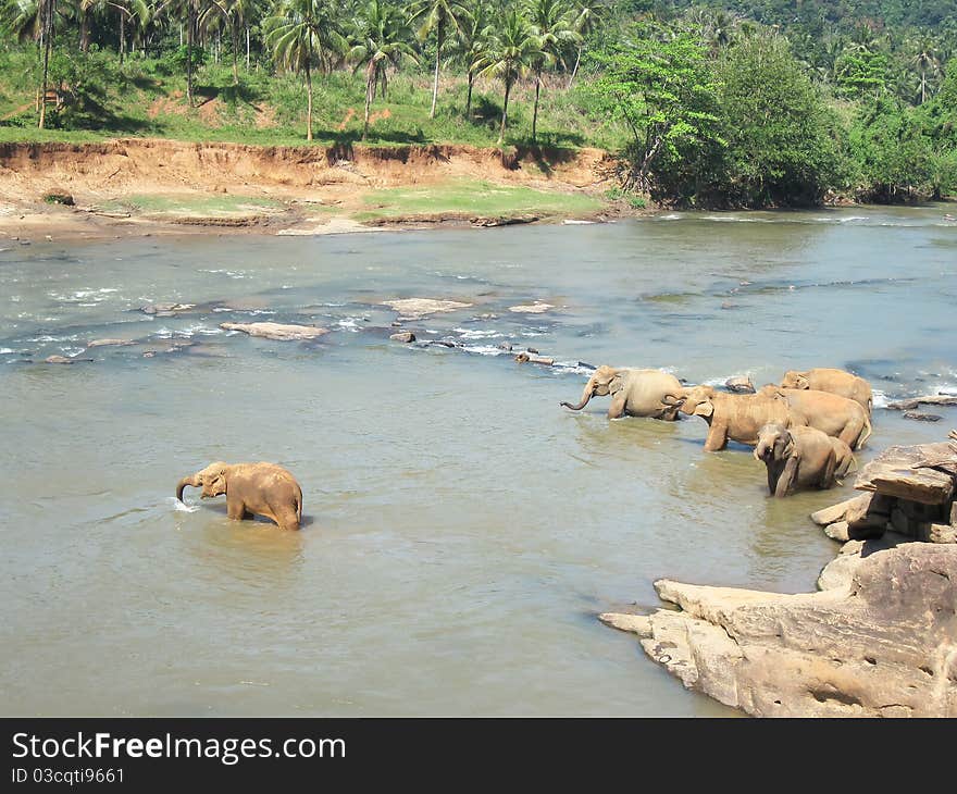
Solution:
<path fill-rule="evenodd" d="M 602 364 L 585 384 L 582 401 L 579 405 L 573 406 L 570 402 L 561 405 L 573 411 L 581 411 L 594 395 L 599 397 L 611 395 L 611 405 L 608 407 L 609 419 L 624 415 L 650 417 L 673 422 L 679 418 L 678 407 L 667 406 L 661 400 L 664 395 L 675 394 L 681 388 L 681 382 L 674 375 L 661 370 L 616 369 Z"/>

